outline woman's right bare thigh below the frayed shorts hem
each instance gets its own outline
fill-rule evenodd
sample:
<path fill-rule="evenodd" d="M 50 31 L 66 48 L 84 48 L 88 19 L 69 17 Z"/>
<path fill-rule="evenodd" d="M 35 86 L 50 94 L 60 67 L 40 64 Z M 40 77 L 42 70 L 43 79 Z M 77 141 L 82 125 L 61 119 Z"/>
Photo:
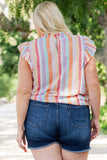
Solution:
<path fill-rule="evenodd" d="M 70 152 L 67 150 L 61 149 L 62 159 L 63 160 L 87 160 L 89 151 L 82 153 Z"/>

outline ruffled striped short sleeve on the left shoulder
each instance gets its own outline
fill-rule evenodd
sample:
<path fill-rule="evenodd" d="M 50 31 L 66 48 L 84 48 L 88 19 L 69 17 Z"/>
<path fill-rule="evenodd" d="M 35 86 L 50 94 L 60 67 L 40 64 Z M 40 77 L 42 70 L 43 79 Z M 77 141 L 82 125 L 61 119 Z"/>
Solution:
<path fill-rule="evenodd" d="M 21 43 L 19 46 L 17 46 L 17 48 L 19 52 L 21 53 L 22 57 L 29 64 L 31 71 L 33 72 L 33 66 L 31 63 L 30 51 L 29 51 L 29 42 Z"/>

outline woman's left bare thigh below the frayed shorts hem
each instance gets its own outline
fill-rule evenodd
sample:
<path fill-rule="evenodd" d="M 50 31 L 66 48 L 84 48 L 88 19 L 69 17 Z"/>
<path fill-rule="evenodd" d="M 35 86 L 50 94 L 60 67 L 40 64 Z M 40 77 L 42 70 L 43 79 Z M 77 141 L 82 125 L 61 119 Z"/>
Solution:
<path fill-rule="evenodd" d="M 61 147 L 58 143 L 31 150 L 35 160 L 62 160 Z"/>

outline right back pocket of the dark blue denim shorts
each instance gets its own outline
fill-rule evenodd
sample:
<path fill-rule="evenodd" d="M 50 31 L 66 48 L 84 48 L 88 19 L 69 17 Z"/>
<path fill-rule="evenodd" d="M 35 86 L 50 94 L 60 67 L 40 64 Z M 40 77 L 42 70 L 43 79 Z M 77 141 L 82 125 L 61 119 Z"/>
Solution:
<path fill-rule="evenodd" d="M 89 107 L 86 105 L 66 106 L 70 124 L 73 127 L 82 128 L 90 123 Z"/>

